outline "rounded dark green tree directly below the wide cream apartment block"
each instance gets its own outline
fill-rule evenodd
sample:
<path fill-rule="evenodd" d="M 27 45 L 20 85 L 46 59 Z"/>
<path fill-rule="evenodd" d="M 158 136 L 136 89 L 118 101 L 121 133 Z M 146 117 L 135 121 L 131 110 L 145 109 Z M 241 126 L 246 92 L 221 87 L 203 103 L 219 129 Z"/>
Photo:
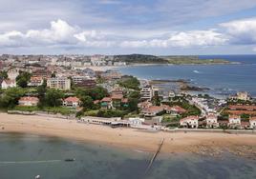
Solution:
<path fill-rule="evenodd" d="M 58 107 L 61 105 L 61 99 L 64 93 L 59 89 L 48 89 L 45 94 L 45 102 L 49 107 Z"/>

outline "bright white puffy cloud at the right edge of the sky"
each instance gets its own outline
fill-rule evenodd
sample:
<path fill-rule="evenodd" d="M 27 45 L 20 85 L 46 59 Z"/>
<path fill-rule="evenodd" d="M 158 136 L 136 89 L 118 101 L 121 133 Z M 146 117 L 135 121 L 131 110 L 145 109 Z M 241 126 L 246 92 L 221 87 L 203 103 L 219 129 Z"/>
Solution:
<path fill-rule="evenodd" d="M 256 18 L 242 19 L 221 24 L 234 44 L 256 44 Z"/>

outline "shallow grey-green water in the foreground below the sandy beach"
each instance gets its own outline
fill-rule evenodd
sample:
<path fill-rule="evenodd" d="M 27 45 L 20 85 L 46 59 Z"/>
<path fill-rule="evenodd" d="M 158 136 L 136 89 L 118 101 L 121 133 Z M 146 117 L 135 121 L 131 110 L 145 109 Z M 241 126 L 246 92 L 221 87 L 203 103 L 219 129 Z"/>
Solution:
<path fill-rule="evenodd" d="M 152 153 L 114 149 L 59 138 L 0 133 L 0 178 L 33 179 L 254 179 L 256 161 L 231 155 L 160 155 L 145 169 Z M 75 158 L 75 162 L 64 162 Z"/>

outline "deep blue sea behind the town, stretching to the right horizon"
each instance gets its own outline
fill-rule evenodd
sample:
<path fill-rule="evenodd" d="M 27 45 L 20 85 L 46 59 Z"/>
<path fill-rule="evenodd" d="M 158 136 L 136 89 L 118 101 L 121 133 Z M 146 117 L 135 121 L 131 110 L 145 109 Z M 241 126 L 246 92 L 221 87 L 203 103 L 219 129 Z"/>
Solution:
<path fill-rule="evenodd" d="M 201 59 L 225 59 L 228 65 L 154 65 L 119 68 L 123 74 L 140 79 L 186 80 L 192 86 L 209 88 L 221 98 L 237 91 L 256 96 L 256 55 L 201 55 Z"/>

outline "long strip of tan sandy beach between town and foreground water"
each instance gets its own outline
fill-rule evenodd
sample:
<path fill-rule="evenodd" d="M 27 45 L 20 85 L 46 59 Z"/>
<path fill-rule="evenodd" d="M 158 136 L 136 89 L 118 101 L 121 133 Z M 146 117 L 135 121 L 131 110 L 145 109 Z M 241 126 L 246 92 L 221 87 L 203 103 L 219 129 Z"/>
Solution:
<path fill-rule="evenodd" d="M 66 119 L 0 113 L 0 132 L 21 132 L 69 140 L 106 144 L 117 148 L 155 151 L 164 138 L 161 152 L 195 152 L 214 155 L 224 149 L 237 154 L 256 154 L 256 135 L 194 132 L 147 132 L 112 129 Z"/>

